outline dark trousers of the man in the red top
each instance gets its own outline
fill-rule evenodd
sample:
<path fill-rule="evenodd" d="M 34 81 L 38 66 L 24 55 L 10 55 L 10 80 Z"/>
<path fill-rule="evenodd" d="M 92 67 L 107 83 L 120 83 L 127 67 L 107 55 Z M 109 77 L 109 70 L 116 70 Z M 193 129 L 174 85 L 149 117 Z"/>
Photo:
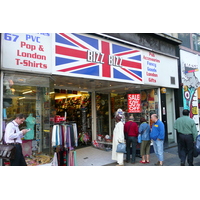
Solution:
<path fill-rule="evenodd" d="M 130 149 L 131 149 L 131 144 L 132 144 L 132 162 L 135 162 L 135 156 L 136 156 L 136 146 L 137 146 L 137 137 L 127 137 L 126 141 L 126 160 L 130 160 Z"/>

